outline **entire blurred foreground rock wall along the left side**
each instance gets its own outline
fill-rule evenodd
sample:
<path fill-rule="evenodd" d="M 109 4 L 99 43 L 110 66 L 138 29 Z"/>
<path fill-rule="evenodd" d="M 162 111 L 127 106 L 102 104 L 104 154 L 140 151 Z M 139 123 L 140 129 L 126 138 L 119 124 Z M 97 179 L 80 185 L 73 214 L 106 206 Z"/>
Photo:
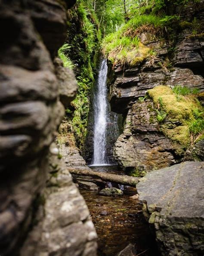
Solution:
<path fill-rule="evenodd" d="M 53 64 L 66 36 L 65 8 L 55 0 L 0 4 L 3 256 L 96 255 L 87 206 L 50 148 L 64 115 L 59 99 L 70 102 L 77 90 L 73 74 Z"/>

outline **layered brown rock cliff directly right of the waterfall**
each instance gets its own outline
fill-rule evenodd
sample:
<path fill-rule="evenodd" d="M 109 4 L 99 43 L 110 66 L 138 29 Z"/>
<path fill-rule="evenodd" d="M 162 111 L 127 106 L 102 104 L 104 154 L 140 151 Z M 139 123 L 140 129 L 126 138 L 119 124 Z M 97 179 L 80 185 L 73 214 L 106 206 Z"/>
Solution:
<path fill-rule="evenodd" d="M 203 10 L 204 2 L 201 1 L 199 7 L 187 6 L 183 16 L 203 24 Z M 183 26 L 177 33 L 173 46 L 170 40 L 155 40 L 154 35 L 148 32 L 140 32 L 138 36 L 145 47 L 154 51 L 154 56 L 134 67 L 110 64 L 109 100 L 111 110 L 124 115 L 124 131 L 114 145 L 115 158 L 127 171 L 141 175 L 142 170 L 179 163 L 186 147 L 163 132 L 164 127 L 168 131 L 181 128 L 181 123 L 165 118 L 161 125 L 153 100 L 139 97 L 144 97 L 147 90 L 160 85 L 170 88 L 180 85 L 203 92 L 204 38 L 203 34 L 192 35 L 188 26 Z M 203 159 L 201 146 L 198 145 L 198 150 L 196 147 L 195 144 L 194 154 L 191 151 L 193 147 L 190 147 L 188 160 L 195 157 L 196 160 Z"/>

